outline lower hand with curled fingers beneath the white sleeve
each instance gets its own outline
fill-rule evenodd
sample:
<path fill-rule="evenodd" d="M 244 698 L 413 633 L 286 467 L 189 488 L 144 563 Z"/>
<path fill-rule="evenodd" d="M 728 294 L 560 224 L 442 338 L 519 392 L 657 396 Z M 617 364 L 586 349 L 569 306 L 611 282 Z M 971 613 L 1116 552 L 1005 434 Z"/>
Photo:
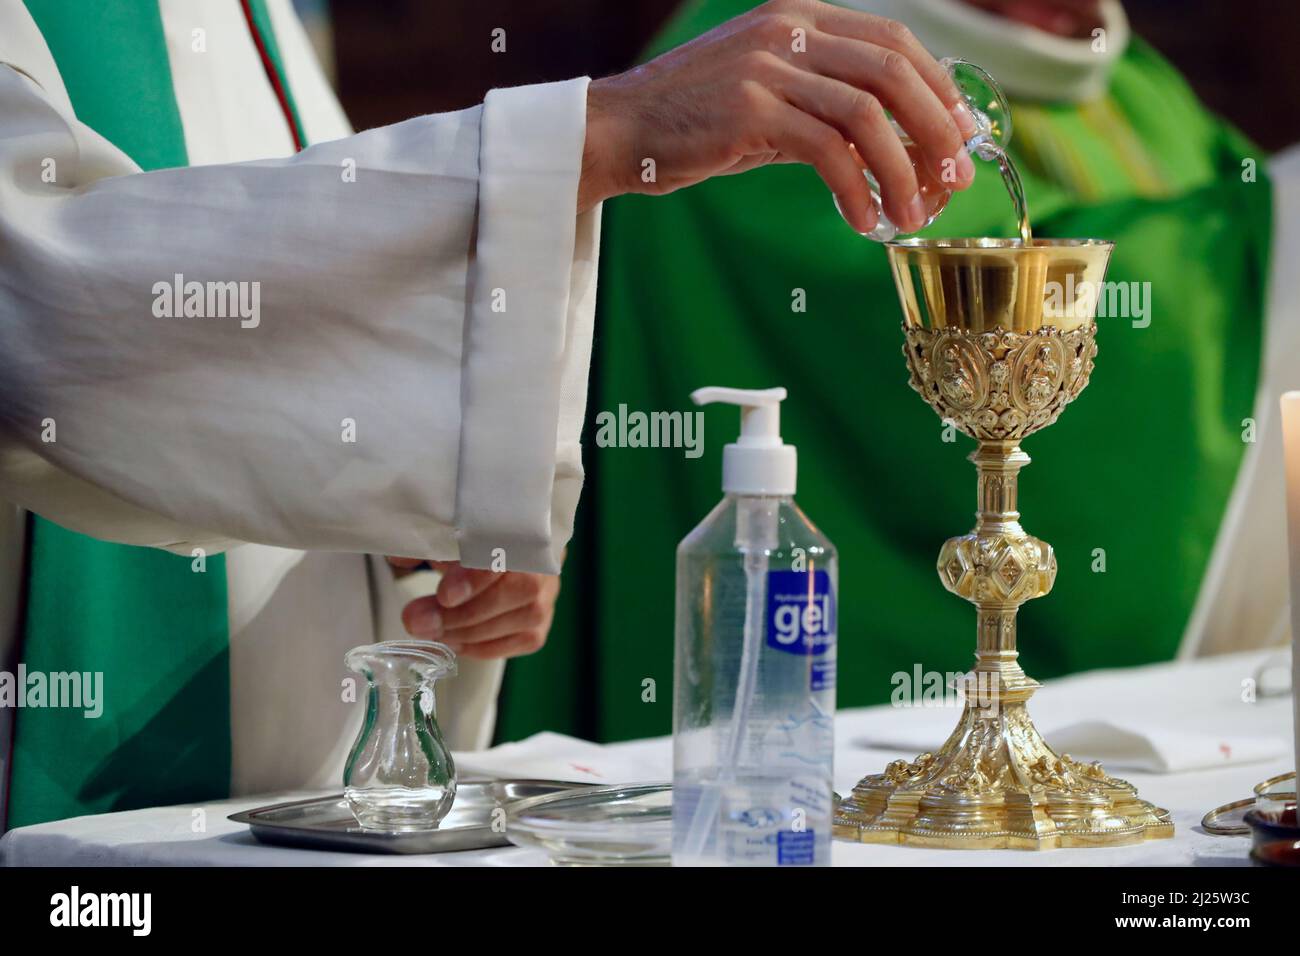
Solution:
<path fill-rule="evenodd" d="M 478 571 L 455 561 L 389 558 L 398 568 L 430 564 L 438 591 L 402 609 L 412 637 L 446 644 L 462 657 L 519 657 L 541 650 L 555 617 L 560 579 L 523 571 Z"/>

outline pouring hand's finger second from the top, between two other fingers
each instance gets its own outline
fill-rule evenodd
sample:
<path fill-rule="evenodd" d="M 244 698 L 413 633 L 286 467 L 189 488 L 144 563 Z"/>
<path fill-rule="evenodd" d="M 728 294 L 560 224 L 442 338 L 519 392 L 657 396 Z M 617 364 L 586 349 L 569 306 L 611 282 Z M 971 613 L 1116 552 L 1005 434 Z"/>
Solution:
<path fill-rule="evenodd" d="M 965 137 L 911 60 L 894 49 L 831 34 L 814 34 L 809 44 L 810 52 L 815 51 L 807 61 L 812 69 L 879 98 L 920 147 L 936 181 L 956 189 L 974 181 L 975 165 L 966 153 Z M 794 57 L 792 62 L 800 65 L 802 60 Z"/>

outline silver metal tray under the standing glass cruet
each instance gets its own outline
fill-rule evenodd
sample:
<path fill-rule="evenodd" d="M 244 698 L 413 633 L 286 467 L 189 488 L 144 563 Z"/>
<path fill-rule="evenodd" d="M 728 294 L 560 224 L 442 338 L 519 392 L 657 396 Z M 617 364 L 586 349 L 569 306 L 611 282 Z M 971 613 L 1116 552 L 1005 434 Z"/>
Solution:
<path fill-rule="evenodd" d="M 584 790 L 590 784 L 562 780 L 463 780 L 456 801 L 437 830 L 396 832 L 365 830 L 342 793 L 231 813 L 261 843 L 299 849 L 342 849 L 354 853 L 447 853 L 456 849 L 508 847 L 504 832 L 491 829 L 491 813 L 515 800 Z"/>

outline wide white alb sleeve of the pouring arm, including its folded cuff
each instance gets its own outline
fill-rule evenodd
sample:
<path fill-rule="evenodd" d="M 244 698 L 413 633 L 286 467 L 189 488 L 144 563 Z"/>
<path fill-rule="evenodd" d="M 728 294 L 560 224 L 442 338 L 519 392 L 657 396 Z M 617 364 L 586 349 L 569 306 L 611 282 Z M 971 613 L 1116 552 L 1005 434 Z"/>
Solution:
<path fill-rule="evenodd" d="M 585 78 L 500 90 L 143 173 L 0 66 L 0 496 L 172 550 L 558 570 L 599 230 L 575 212 L 585 101 Z"/>

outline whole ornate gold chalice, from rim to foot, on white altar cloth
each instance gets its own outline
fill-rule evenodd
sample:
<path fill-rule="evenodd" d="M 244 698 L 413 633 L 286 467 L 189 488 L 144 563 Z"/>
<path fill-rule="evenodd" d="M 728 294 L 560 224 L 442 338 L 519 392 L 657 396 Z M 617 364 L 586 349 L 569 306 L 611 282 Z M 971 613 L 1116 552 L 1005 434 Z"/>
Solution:
<path fill-rule="evenodd" d="M 1095 239 L 906 239 L 888 245 L 915 389 L 978 442 L 975 528 L 939 555 L 944 587 L 975 605 L 975 669 L 957 728 L 841 801 L 835 835 L 949 848 L 1102 847 L 1171 836 L 1167 810 L 1098 763 L 1057 754 L 1026 702 L 1015 614 L 1052 589 L 1052 546 L 1020 527 L 1020 440 L 1088 384 L 1096 293 L 1112 245 Z"/>

